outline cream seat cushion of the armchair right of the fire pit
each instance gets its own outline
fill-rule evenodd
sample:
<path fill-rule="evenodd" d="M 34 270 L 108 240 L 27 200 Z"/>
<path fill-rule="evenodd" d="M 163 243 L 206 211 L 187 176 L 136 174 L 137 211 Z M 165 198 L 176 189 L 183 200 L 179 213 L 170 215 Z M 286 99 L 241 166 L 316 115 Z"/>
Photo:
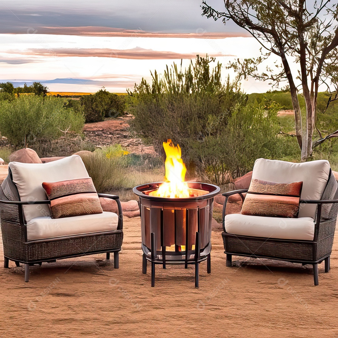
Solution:
<path fill-rule="evenodd" d="M 224 218 L 229 234 L 313 241 L 315 223 L 311 217 L 282 218 L 230 214 Z"/>

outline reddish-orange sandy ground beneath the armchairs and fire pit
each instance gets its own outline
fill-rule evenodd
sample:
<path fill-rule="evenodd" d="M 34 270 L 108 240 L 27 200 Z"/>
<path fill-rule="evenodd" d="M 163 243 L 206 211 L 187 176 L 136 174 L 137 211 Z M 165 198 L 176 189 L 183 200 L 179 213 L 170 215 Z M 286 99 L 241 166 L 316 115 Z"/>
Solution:
<path fill-rule="evenodd" d="M 5 337 L 334 337 L 338 335 L 338 239 L 331 270 L 234 257 L 225 266 L 221 231 L 212 232 L 211 274 L 156 266 L 142 274 L 140 218 L 124 218 L 120 268 L 105 255 L 31 267 L 0 267 L 0 336 Z M 2 245 L 0 245 L 2 250 Z M 0 252 L 0 264 L 3 254 Z"/>

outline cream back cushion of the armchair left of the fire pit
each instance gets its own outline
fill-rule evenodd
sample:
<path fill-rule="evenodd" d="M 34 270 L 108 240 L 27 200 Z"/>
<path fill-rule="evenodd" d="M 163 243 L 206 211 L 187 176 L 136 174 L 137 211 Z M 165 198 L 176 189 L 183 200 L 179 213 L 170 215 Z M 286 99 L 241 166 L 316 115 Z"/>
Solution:
<path fill-rule="evenodd" d="M 10 162 L 13 182 L 18 188 L 21 201 L 46 200 L 42 182 L 59 182 L 68 179 L 88 178 L 88 172 L 80 156 L 72 155 L 49 163 Z M 48 204 L 24 206 L 26 221 L 35 217 L 50 216 Z"/>

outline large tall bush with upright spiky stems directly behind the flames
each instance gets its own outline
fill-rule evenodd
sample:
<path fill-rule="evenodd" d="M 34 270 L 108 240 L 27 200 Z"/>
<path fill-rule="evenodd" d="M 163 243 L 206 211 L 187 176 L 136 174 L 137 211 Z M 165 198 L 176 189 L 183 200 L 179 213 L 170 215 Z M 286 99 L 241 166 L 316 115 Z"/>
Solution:
<path fill-rule="evenodd" d="M 236 105 L 245 105 L 246 95 L 229 78 L 221 81 L 221 65 L 211 68 L 214 58 L 196 57 L 183 70 L 174 63 L 161 78 L 155 71 L 152 83 L 142 79 L 129 92 L 135 115 L 134 129 L 151 139 L 159 149 L 168 138 L 182 147 L 190 159 L 189 144 L 217 136 L 227 124 Z"/>

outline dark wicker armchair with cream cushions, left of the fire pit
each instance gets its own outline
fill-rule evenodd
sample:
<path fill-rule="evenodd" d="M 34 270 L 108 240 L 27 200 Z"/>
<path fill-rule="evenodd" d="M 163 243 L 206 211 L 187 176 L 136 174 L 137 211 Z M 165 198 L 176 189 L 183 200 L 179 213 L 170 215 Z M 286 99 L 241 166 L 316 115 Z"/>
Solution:
<path fill-rule="evenodd" d="M 2 184 L 2 188 L 0 188 L 2 193 L 0 195 L 2 196 L 2 198 L 0 198 L 2 199 L 0 200 L 0 222 L 5 268 L 8 268 L 9 260 L 14 261 L 17 266 L 19 266 L 20 263 L 25 264 L 25 282 L 28 282 L 30 265 L 41 265 L 42 262 L 55 262 L 56 259 L 80 257 L 104 252 L 106 252 L 107 260 L 110 259 L 110 252 L 114 252 L 114 268 L 119 268 L 119 251 L 121 250 L 123 239 L 123 218 L 118 196 L 99 194 L 99 197 L 110 198 L 116 201 L 118 215 L 103 212 L 103 214 L 88 215 L 89 217 L 87 218 L 86 216 L 76 216 L 80 218 L 82 222 L 80 224 L 77 223 L 77 226 L 78 224 L 80 225 L 80 230 L 77 228 L 75 231 L 69 226 L 72 225 L 72 222 L 75 223 L 75 220 L 72 220 L 75 219 L 75 217 L 51 219 L 51 217 L 46 216 L 46 214 L 41 217 L 41 210 L 43 210 L 44 207 L 48 207 L 47 204 L 50 204 L 50 201 L 46 199 L 41 200 L 42 198 L 35 196 L 39 194 L 41 196 L 41 194 L 44 193 L 44 191 L 41 190 L 41 183 L 43 180 L 46 180 L 46 175 L 48 176 L 48 172 L 53 166 L 57 166 L 58 176 L 54 177 L 54 180 L 50 182 L 89 177 L 79 156 L 70 156 L 69 158 L 46 164 L 20 164 L 20 166 L 24 166 L 28 169 L 30 168 L 29 166 L 38 165 L 40 166 L 38 167 L 38 175 L 41 175 L 41 172 L 45 175 L 40 178 L 41 182 L 37 184 L 38 193 L 31 188 L 29 198 L 22 196 L 17 189 L 17 186 L 22 184 L 24 180 L 20 182 L 18 173 L 16 173 L 16 178 L 13 178 L 12 171 L 15 165 L 15 162 L 9 165 L 9 174 Z M 62 170 L 59 170 L 59 168 L 62 168 Z M 39 179 L 37 182 L 39 182 Z M 30 182 L 30 186 L 31 185 L 32 183 Z M 30 210 L 27 208 L 30 208 Z M 41 212 L 41 214 L 38 215 L 40 217 L 30 219 L 31 216 L 29 215 L 32 212 Z M 99 221 L 97 221 L 97 219 L 95 220 L 95 218 L 100 217 L 101 219 Z M 44 235 L 40 234 L 40 237 L 43 238 L 39 238 L 39 233 L 36 235 L 37 231 L 34 229 L 34 224 L 37 224 L 39 219 L 49 222 L 47 223 Z M 114 221 L 110 221 L 110 224 L 104 224 L 106 220 L 110 219 Z M 60 235 L 60 231 L 64 231 L 61 230 L 62 227 L 60 225 L 62 225 L 61 222 L 65 220 L 68 222 L 68 233 L 66 234 L 65 232 L 66 235 Z M 81 231 L 81 224 L 83 224 L 83 231 Z M 69 230 L 69 228 L 71 230 Z M 49 230 L 51 231 L 51 235 L 46 236 L 46 231 L 48 232 Z M 32 237 L 34 231 L 35 237 Z M 69 233 L 69 231 L 74 231 L 74 233 Z"/>

